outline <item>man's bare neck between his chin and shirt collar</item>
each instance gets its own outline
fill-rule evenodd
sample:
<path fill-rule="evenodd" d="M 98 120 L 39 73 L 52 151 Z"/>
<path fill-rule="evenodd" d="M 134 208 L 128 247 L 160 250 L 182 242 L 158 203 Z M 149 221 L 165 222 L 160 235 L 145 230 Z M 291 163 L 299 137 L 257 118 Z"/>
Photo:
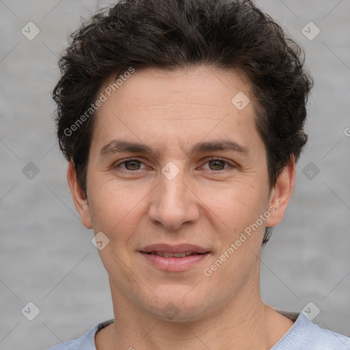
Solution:
<path fill-rule="evenodd" d="M 96 335 L 98 350 L 265 350 L 293 325 L 263 304 L 260 293 L 247 293 L 249 288 L 196 321 L 174 322 L 140 311 L 111 287 L 115 319 Z"/>

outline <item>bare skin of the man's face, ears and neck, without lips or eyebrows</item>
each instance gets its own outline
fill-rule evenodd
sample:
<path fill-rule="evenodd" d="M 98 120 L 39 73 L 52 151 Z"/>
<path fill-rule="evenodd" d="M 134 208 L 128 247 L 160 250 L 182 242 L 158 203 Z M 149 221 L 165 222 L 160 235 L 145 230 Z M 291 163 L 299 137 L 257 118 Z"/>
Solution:
<path fill-rule="evenodd" d="M 113 77 L 101 92 L 111 82 Z M 282 220 L 295 183 L 295 161 L 270 189 L 254 100 L 240 111 L 231 103 L 238 92 L 250 96 L 249 84 L 234 71 L 147 68 L 136 70 L 99 107 L 87 198 L 74 166 L 68 165 L 84 226 L 109 238 L 98 252 L 109 274 L 115 322 L 96 334 L 98 350 L 270 349 L 293 325 L 262 302 L 259 274 L 265 227 Z M 114 139 L 146 144 L 158 154 L 101 156 Z M 249 152 L 189 152 L 198 142 L 222 139 Z M 130 157 L 139 162 L 122 163 Z M 161 172 L 169 161 L 179 170 L 172 180 Z M 211 276 L 204 275 L 272 207 L 251 237 Z M 153 243 L 191 243 L 210 254 L 187 271 L 161 271 L 139 253 Z M 173 319 L 163 314 L 169 303 L 178 310 Z"/>

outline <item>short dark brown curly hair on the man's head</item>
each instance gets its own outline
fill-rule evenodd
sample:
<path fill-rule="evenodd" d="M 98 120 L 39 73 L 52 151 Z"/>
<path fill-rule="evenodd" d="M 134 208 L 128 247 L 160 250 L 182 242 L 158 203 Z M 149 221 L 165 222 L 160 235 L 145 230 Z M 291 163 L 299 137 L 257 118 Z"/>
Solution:
<path fill-rule="evenodd" d="M 194 65 L 235 69 L 250 81 L 270 187 L 292 157 L 299 159 L 312 78 L 300 46 L 270 16 L 250 0 L 122 0 L 72 33 L 53 90 L 59 147 L 85 194 L 94 113 L 71 126 L 106 79 L 130 67 Z M 270 234 L 267 228 L 263 244 Z"/>

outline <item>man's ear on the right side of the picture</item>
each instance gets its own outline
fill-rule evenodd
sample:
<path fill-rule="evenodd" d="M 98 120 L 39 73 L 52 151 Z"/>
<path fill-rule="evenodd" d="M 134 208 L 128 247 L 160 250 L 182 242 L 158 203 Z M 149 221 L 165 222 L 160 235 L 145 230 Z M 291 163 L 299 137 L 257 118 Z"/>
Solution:
<path fill-rule="evenodd" d="M 273 227 L 282 221 L 293 193 L 294 184 L 295 158 L 291 157 L 291 161 L 284 167 L 271 191 L 269 207 L 273 207 L 274 211 L 271 211 L 269 219 L 266 220 L 267 227 Z"/>

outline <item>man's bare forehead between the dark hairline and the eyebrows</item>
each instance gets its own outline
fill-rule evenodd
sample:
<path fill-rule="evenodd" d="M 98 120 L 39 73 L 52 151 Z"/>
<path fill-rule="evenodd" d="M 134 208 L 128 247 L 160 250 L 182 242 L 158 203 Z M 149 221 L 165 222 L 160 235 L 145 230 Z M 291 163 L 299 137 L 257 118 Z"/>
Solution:
<path fill-rule="evenodd" d="M 255 129 L 250 86 L 232 70 L 147 68 L 122 78 L 109 77 L 100 89 L 106 99 L 98 108 L 93 143 L 118 138 L 152 142 L 161 150 L 165 143 L 190 147 L 192 139 L 221 138 L 244 147 L 244 135 Z"/>

